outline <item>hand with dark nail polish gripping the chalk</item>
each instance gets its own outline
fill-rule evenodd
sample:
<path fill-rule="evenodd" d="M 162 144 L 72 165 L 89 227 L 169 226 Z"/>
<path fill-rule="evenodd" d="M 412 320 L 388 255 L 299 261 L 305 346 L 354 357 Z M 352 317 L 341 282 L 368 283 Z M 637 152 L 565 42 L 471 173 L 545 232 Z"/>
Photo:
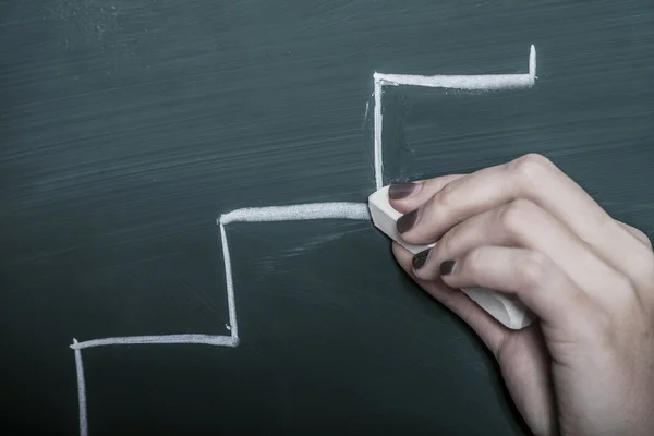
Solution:
<path fill-rule="evenodd" d="M 393 185 L 402 268 L 498 361 L 536 435 L 654 434 L 654 254 L 549 160 Z M 517 295 L 538 322 L 510 330 L 459 288 Z"/>

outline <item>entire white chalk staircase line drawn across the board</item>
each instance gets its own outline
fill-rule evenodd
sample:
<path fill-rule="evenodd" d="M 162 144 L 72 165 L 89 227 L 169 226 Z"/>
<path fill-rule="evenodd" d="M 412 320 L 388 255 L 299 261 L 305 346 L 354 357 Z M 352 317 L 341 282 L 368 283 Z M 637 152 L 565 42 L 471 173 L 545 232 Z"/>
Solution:
<path fill-rule="evenodd" d="M 380 74 L 373 76 L 375 93 L 374 111 L 374 155 L 375 155 L 375 182 L 377 189 L 383 187 L 383 160 L 382 160 L 382 94 L 384 86 L 423 86 L 450 89 L 492 90 L 531 87 L 536 77 L 536 50 L 531 46 L 529 74 L 497 74 L 497 75 L 407 75 Z M 237 306 L 234 300 L 234 283 L 232 276 L 232 262 L 227 241 L 226 226 L 233 222 L 282 222 L 316 219 L 351 219 L 371 220 L 367 204 L 365 203 L 310 203 L 288 206 L 247 207 L 223 214 L 217 220 L 220 228 L 222 243 L 222 261 L 225 267 L 225 286 L 229 310 L 230 335 L 160 335 L 160 336 L 128 336 L 92 339 L 77 341 L 73 339 L 70 348 L 74 351 L 75 370 L 77 373 L 77 399 L 80 402 L 80 435 L 88 435 L 88 416 L 86 405 L 86 382 L 82 350 L 95 347 L 110 346 L 144 346 L 144 344 L 202 344 L 213 347 L 238 347 L 239 324 L 237 320 Z"/>

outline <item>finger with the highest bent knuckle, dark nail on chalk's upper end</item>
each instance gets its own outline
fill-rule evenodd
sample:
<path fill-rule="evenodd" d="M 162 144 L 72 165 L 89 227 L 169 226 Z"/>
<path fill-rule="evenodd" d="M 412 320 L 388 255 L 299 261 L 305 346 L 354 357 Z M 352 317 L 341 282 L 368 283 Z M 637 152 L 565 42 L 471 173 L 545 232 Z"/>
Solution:
<path fill-rule="evenodd" d="M 407 242 L 433 243 L 458 222 L 517 198 L 530 199 L 549 211 L 637 286 L 646 287 L 651 280 L 651 250 L 554 164 L 537 155 L 450 182 L 422 207 L 402 216 L 398 231 Z"/>

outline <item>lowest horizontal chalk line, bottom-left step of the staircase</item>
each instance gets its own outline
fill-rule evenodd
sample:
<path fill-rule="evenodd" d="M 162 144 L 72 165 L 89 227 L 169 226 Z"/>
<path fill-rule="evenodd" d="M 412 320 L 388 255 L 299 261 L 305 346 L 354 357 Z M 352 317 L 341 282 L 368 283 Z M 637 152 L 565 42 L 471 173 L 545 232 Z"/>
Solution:
<path fill-rule="evenodd" d="M 231 317 L 231 314 L 230 314 Z M 233 330 L 232 330 L 233 334 Z M 125 336 L 104 339 L 92 339 L 83 342 L 74 341 L 70 346 L 73 350 L 83 350 L 86 348 L 94 347 L 106 347 L 106 346 L 144 346 L 144 344 L 156 344 L 156 343 L 197 343 L 205 346 L 219 346 L 219 347 L 237 347 L 239 338 L 234 336 L 223 335 L 199 335 L 199 334 L 187 334 L 187 335 L 160 335 L 160 336 Z"/>

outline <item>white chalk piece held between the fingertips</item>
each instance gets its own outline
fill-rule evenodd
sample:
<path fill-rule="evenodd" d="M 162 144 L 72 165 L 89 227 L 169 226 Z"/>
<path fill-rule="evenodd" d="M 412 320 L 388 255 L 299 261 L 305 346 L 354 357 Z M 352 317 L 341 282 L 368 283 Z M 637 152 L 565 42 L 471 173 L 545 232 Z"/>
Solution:
<path fill-rule="evenodd" d="M 435 244 L 410 244 L 402 240 L 397 229 L 398 218 L 402 214 L 390 205 L 388 187 L 384 186 L 368 197 L 368 209 L 375 227 L 413 254 L 434 246 Z M 533 322 L 532 313 L 514 298 L 486 288 L 465 288 L 462 291 L 508 328 L 518 330 L 529 326 Z"/>

